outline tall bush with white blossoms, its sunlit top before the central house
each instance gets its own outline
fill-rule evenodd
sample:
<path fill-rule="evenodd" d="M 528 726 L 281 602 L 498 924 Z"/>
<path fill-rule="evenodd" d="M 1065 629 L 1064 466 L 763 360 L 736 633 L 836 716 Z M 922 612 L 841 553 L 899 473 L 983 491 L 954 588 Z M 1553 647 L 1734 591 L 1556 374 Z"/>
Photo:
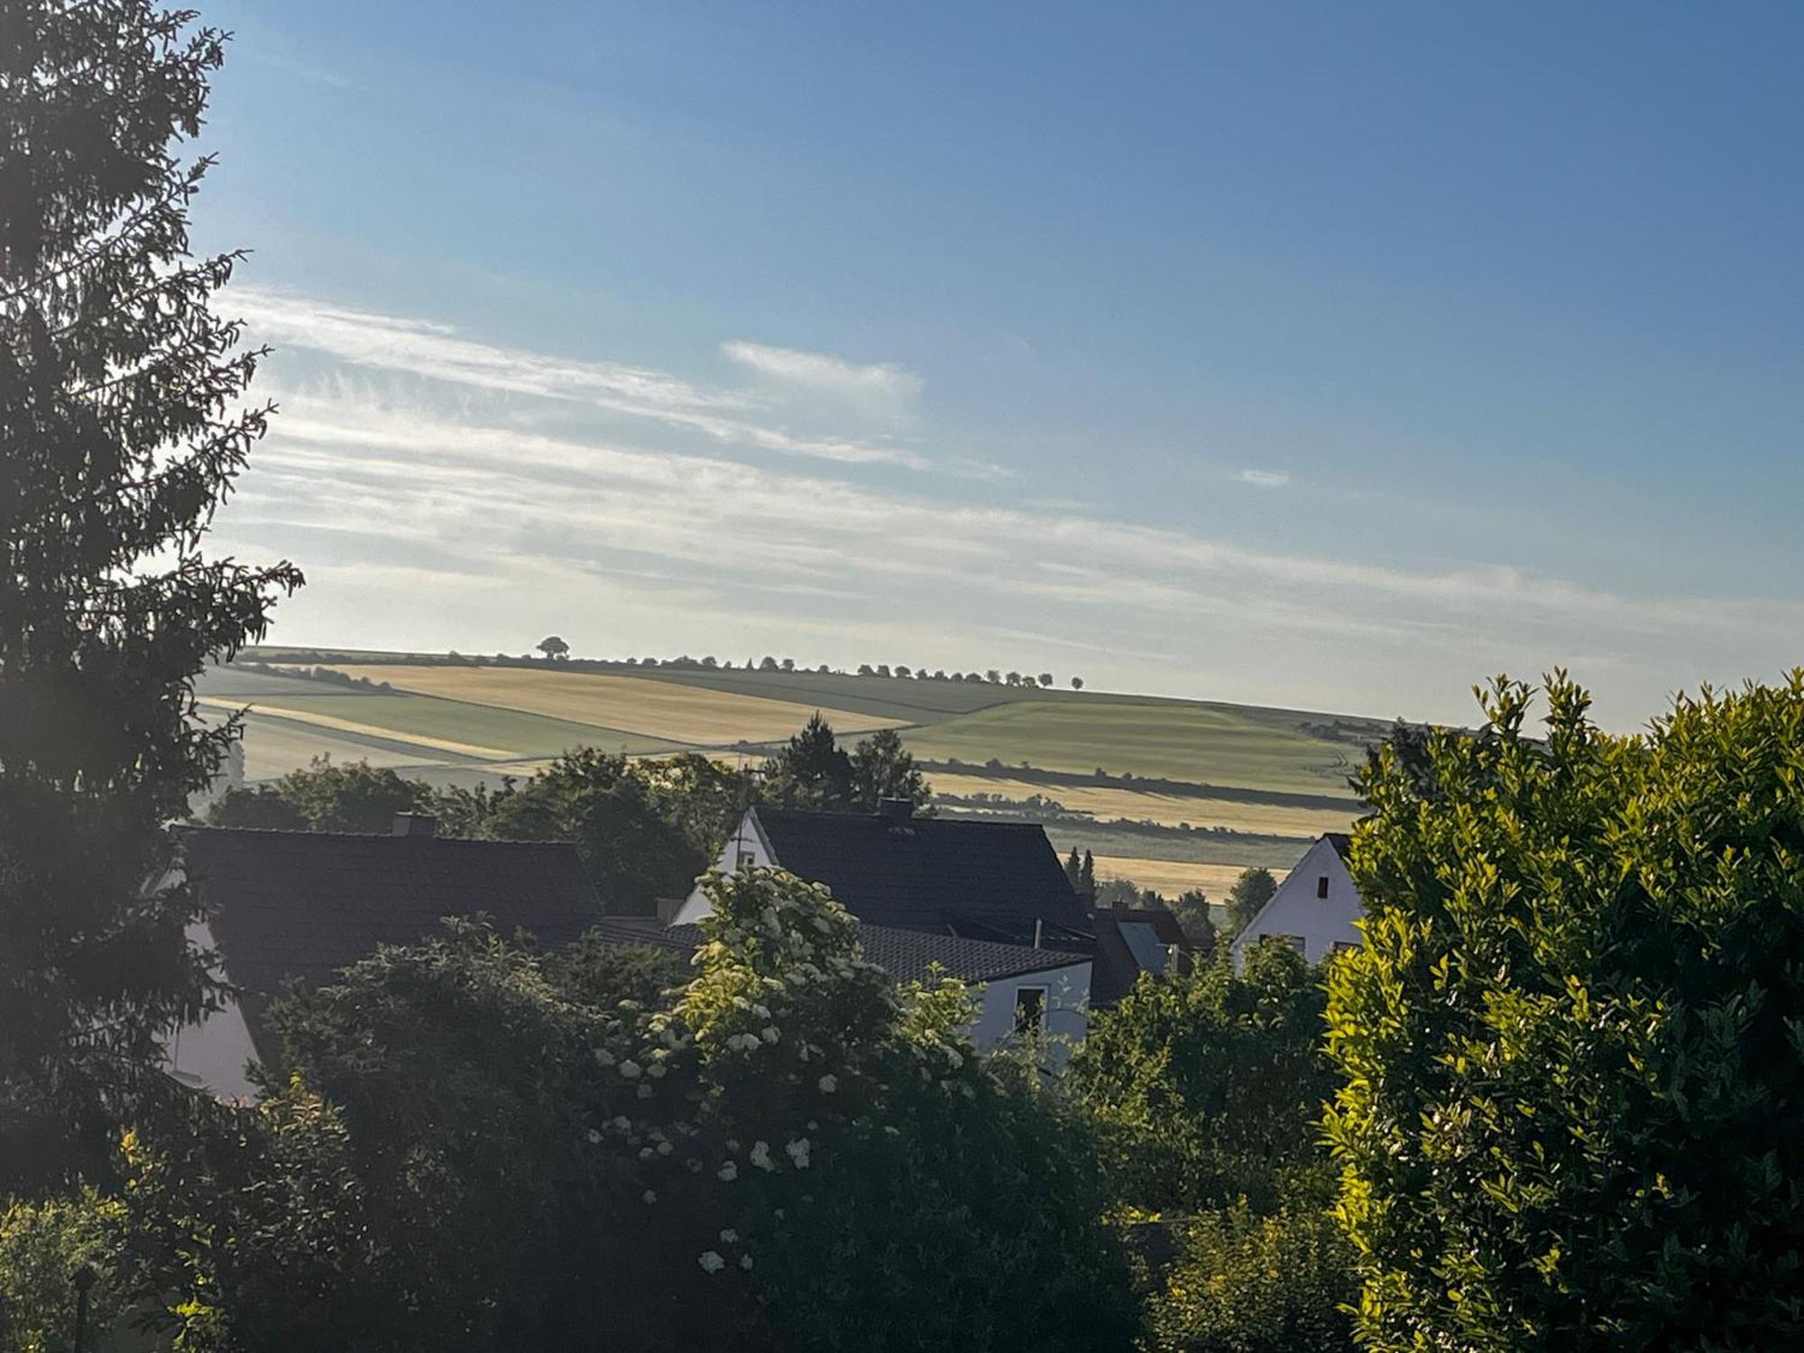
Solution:
<path fill-rule="evenodd" d="M 1082 1126 L 976 1055 L 962 989 L 897 992 L 814 884 L 752 870 L 709 895 L 676 1021 L 781 1346 L 1122 1346 Z"/>

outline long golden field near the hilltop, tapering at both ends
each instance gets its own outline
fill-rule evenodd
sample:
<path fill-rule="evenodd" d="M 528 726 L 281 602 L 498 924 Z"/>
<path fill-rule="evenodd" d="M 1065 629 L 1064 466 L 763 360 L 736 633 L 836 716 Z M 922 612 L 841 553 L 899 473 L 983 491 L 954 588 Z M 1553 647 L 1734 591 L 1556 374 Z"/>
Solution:
<path fill-rule="evenodd" d="M 788 738 L 814 714 L 812 705 L 788 700 L 709 691 L 646 676 L 399 664 L 337 664 L 337 671 L 366 676 L 372 682 L 388 682 L 397 691 L 464 700 L 492 709 L 518 709 L 698 747 Z M 893 718 L 842 709 L 823 713 L 832 722 L 833 731 L 841 734 L 898 725 L 898 720 Z"/>

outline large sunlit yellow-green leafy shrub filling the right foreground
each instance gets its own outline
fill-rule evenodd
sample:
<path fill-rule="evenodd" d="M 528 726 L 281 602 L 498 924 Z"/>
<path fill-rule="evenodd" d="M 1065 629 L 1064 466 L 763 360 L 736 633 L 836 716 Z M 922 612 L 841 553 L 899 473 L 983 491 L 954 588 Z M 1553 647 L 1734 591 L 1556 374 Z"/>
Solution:
<path fill-rule="evenodd" d="M 1389 745 L 1330 1128 L 1378 1349 L 1804 1330 L 1804 675 L 1600 732 L 1553 676 Z"/>

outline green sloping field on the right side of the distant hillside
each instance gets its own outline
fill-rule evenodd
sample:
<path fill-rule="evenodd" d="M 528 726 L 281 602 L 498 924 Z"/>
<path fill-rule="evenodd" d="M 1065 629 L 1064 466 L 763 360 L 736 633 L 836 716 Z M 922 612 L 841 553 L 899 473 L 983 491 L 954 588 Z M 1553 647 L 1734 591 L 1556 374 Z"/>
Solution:
<path fill-rule="evenodd" d="M 1135 774 L 1205 785 L 1346 794 L 1357 747 L 1310 738 L 1232 705 L 1174 700 L 1021 700 L 906 734 L 931 761 Z M 1043 790 L 1059 797 L 1057 790 Z"/>

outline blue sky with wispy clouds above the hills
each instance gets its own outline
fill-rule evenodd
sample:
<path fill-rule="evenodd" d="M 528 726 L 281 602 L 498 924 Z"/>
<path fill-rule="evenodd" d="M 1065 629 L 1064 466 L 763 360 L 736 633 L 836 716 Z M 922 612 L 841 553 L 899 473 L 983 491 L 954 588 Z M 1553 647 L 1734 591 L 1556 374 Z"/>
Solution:
<path fill-rule="evenodd" d="M 206 18 L 271 642 L 1613 727 L 1804 658 L 1804 9 Z"/>

